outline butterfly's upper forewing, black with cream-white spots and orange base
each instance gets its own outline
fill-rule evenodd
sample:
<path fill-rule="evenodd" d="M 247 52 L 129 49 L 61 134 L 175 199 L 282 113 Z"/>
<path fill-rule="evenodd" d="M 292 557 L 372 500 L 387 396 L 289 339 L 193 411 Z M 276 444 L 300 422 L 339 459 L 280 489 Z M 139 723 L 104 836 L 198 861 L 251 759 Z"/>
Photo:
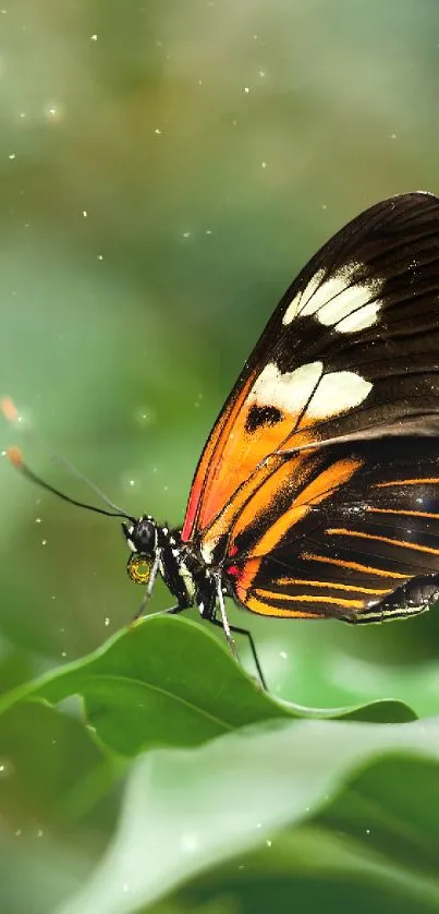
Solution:
<path fill-rule="evenodd" d="M 313 257 L 202 455 L 182 538 L 206 562 L 218 560 L 243 512 L 264 512 L 266 486 L 273 496 L 289 476 L 307 478 L 312 452 L 295 448 L 339 436 L 437 433 L 438 293 L 439 200 L 431 194 L 378 203 Z"/>

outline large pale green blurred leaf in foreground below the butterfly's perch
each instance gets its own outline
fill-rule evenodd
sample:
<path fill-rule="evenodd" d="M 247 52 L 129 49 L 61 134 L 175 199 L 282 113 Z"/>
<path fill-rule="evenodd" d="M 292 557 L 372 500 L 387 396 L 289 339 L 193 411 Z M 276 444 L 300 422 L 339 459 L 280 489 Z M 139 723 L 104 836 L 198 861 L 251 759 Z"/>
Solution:
<path fill-rule="evenodd" d="M 388 798 L 390 763 L 398 786 Z M 58 914 L 130 914 L 236 854 L 242 864 L 265 844 L 276 855 L 277 833 L 312 819 L 317 840 L 302 854 L 297 842 L 293 852 L 283 846 L 283 876 L 288 862 L 302 877 L 320 870 L 343 882 L 347 873 L 390 898 L 398 889 L 413 911 L 439 911 L 438 779 L 434 719 L 279 721 L 197 749 L 149 753 L 133 766 L 115 840 Z"/>

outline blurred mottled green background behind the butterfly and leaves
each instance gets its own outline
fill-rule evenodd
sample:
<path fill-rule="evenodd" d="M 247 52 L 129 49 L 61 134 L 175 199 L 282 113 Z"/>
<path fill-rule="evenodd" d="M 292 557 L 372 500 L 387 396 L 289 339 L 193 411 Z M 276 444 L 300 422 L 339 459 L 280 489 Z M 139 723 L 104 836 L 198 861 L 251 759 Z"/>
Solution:
<path fill-rule="evenodd" d="M 206 435 L 301 266 L 377 200 L 439 190 L 437 1 L 4 3 L 0 393 L 129 512 L 181 524 Z M 11 443 L 89 497 L 3 423 Z M 102 644 L 139 590 L 117 520 L 33 489 L 7 459 L 0 489 L 7 689 Z M 154 608 L 168 599 L 159 586 Z M 435 612 L 371 630 L 251 625 L 279 697 L 439 707 Z M 39 733 L 27 722 L 19 754 Z M 77 738 L 72 766 L 86 768 Z M 2 914 L 51 911 L 112 832 L 115 795 L 80 828 L 34 787 L 7 790 Z"/>

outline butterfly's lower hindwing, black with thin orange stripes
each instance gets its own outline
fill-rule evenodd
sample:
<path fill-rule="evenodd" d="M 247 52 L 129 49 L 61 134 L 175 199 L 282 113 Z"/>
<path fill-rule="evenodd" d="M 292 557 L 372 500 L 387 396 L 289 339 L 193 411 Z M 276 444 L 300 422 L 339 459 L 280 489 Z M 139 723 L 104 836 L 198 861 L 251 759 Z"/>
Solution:
<path fill-rule="evenodd" d="M 321 448 L 307 482 L 291 479 L 282 498 L 231 531 L 225 574 L 246 609 L 367 622 L 419 612 L 437 596 L 437 440 Z"/>

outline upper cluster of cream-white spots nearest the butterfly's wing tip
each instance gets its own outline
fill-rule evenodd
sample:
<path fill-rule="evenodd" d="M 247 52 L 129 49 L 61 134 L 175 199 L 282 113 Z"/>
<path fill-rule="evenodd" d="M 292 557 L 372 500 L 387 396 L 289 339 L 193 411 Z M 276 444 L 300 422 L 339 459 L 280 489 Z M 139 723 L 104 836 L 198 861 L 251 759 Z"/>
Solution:
<path fill-rule="evenodd" d="M 358 264 L 351 264 L 322 281 L 325 270 L 319 269 L 302 292 L 297 292 L 289 304 L 282 323 L 297 316 L 315 315 L 325 327 L 334 327 L 339 333 L 356 333 L 376 324 L 382 302 L 376 299 L 382 289 L 383 279 L 352 284 Z"/>

